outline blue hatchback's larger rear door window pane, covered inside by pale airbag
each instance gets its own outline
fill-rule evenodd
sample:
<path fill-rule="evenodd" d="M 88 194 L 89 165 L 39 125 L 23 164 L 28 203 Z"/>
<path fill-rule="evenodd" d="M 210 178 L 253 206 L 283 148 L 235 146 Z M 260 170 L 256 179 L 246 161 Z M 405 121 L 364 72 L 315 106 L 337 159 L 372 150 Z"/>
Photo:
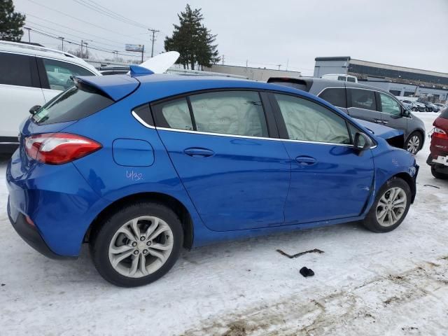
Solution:
<path fill-rule="evenodd" d="M 197 131 L 268 137 L 258 92 L 207 92 L 190 96 L 190 103 Z"/>

